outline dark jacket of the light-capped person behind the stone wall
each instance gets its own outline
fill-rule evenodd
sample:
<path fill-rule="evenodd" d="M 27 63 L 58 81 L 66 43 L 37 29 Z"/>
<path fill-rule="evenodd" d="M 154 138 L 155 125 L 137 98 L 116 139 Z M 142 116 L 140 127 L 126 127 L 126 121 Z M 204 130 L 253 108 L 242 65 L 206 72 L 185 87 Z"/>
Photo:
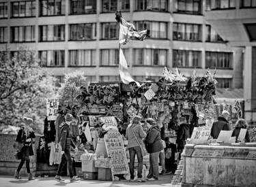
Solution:
<path fill-rule="evenodd" d="M 213 139 L 217 139 L 221 131 L 229 131 L 229 122 L 223 117 L 218 117 L 218 121 L 212 124 L 211 136 Z"/>

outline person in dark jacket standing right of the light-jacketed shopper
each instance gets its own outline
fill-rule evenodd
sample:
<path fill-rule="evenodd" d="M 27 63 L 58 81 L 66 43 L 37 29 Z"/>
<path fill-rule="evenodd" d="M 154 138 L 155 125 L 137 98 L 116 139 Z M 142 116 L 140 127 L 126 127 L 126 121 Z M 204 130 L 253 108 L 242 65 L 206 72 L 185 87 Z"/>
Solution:
<path fill-rule="evenodd" d="M 144 139 L 147 152 L 150 154 L 150 171 L 147 175 L 147 180 L 154 181 L 158 180 L 159 167 L 158 158 L 161 150 L 164 149 L 162 146 L 162 139 L 160 136 L 160 128 L 156 125 L 156 122 L 152 118 L 147 118 L 147 137 Z"/>

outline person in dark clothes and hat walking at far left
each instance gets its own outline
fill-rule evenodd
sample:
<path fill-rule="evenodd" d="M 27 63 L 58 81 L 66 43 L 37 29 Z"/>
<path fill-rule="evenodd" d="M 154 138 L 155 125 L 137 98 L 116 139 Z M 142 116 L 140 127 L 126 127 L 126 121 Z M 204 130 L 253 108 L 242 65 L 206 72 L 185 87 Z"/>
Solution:
<path fill-rule="evenodd" d="M 20 130 L 18 131 L 18 135 L 16 137 L 16 141 L 18 141 L 22 148 L 20 148 L 20 152 L 23 154 L 23 158 L 20 160 L 20 164 L 18 165 L 18 169 L 14 173 L 14 178 L 21 179 L 19 173 L 20 169 L 23 167 L 25 161 L 26 161 L 26 168 L 27 168 L 27 174 L 29 180 L 34 180 L 35 178 L 30 172 L 29 168 L 29 156 L 33 156 L 33 147 L 32 144 L 35 143 L 35 133 L 33 132 L 33 129 L 31 128 L 31 125 L 33 124 L 33 120 L 31 118 L 24 117 L 23 120 L 25 120 L 25 126 L 20 127 Z"/>

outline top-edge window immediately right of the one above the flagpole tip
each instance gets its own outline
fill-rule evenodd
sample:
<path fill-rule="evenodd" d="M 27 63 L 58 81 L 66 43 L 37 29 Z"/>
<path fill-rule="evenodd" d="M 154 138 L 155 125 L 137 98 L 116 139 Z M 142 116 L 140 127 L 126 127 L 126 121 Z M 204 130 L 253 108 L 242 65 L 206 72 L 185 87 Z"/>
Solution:
<path fill-rule="evenodd" d="M 135 2 L 135 10 L 143 11 L 158 11 L 167 12 L 168 5 L 167 0 L 137 0 Z"/>

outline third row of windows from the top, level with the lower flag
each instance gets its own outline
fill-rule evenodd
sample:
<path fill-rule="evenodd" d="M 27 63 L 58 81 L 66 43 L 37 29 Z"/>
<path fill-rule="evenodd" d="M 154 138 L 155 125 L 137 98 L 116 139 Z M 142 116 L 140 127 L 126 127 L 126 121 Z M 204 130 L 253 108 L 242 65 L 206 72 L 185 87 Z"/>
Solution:
<path fill-rule="evenodd" d="M 133 49 L 132 57 L 129 49 L 124 49 L 124 56 L 133 61 L 134 66 L 165 66 L 167 65 L 168 50 L 163 49 Z M 96 50 L 69 50 L 69 67 L 96 66 Z M 15 55 L 15 53 L 14 53 Z M 44 50 L 38 52 L 42 67 L 64 67 L 64 50 Z M 132 59 L 129 59 L 132 58 Z M 231 69 L 233 62 L 232 52 L 205 52 L 205 67 Z M 117 66 L 119 63 L 118 49 L 100 50 L 100 66 Z M 173 67 L 201 67 L 201 51 L 173 50 Z"/>

